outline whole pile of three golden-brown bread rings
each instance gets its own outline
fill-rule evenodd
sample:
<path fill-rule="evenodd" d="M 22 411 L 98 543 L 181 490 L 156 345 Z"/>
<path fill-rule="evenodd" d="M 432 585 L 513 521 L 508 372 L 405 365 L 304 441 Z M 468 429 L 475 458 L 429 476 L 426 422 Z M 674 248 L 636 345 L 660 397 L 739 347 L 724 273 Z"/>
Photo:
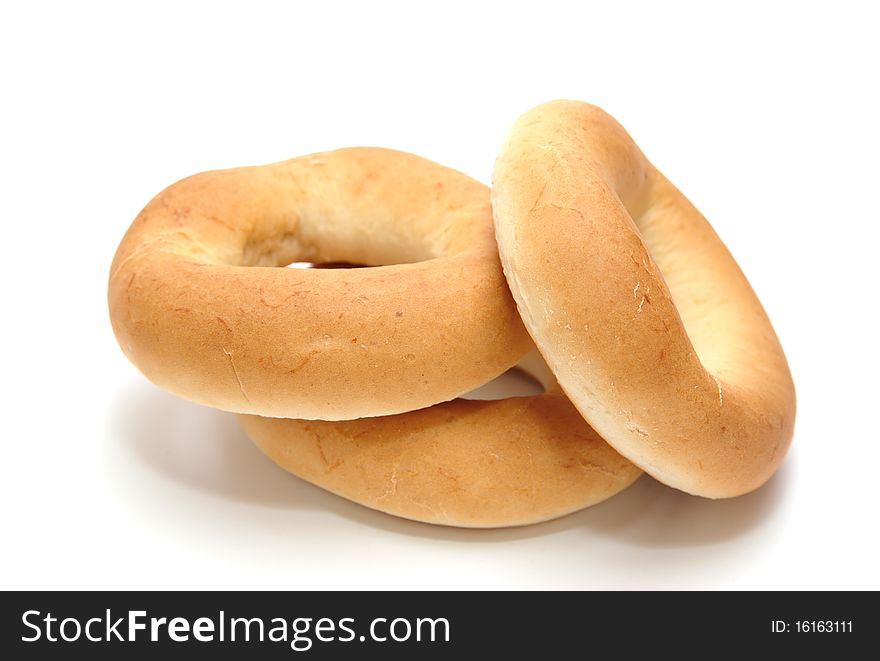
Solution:
<path fill-rule="evenodd" d="M 794 425 L 782 348 L 626 131 L 544 104 L 493 180 L 377 148 L 185 179 L 119 246 L 116 337 L 281 467 L 419 521 L 543 521 L 641 471 L 710 498 L 769 479 Z M 460 398 L 515 365 L 544 394 Z"/>

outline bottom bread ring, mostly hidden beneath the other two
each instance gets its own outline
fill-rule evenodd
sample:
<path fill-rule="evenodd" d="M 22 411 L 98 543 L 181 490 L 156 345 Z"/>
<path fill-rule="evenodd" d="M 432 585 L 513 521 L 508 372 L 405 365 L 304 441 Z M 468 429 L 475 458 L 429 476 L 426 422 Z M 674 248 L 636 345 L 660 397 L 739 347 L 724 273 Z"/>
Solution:
<path fill-rule="evenodd" d="M 540 360 L 521 366 L 542 376 Z M 447 526 L 546 521 L 599 503 L 641 475 L 552 388 L 362 420 L 241 415 L 239 422 L 294 475 L 367 507 Z"/>

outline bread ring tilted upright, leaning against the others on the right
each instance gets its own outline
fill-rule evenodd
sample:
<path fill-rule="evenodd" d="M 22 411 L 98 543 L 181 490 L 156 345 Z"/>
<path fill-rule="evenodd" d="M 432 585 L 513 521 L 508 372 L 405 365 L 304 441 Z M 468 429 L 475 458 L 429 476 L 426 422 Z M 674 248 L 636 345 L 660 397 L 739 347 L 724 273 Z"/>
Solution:
<path fill-rule="evenodd" d="M 623 127 L 576 101 L 530 110 L 492 203 L 520 314 L 587 422 L 683 491 L 763 484 L 794 428 L 782 347 L 709 223 Z"/>

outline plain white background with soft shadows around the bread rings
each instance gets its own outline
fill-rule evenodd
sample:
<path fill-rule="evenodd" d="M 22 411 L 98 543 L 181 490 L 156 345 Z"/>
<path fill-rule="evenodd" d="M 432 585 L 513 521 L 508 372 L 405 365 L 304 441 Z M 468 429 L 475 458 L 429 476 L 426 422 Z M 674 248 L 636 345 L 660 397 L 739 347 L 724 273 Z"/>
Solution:
<path fill-rule="evenodd" d="M 9 4 L 0 587 L 880 588 L 873 3 Z M 760 491 L 645 477 L 528 528 L 402 521 L 282 472 L 117 347 L 110 261 L 167 184 L 348 145 L 488 182 L 557 97 L 629 129 L 773 319 L 799 411 Z"/>

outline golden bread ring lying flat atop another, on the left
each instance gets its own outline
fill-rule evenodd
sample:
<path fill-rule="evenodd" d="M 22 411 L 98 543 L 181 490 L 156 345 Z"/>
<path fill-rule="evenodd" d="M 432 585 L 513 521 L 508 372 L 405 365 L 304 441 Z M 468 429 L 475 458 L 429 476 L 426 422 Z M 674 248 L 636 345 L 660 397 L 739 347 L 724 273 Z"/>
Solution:
<path fill-rule="evenodd" d="M 379 268 L 275 268 L 294 261 Z M 532 346 L 501 272 L 487 187 L 387 149 L 174 184 L 122 239 L 108 298 L 116 338 L 147 378 L 264 416 L 422 408 Z"/>

